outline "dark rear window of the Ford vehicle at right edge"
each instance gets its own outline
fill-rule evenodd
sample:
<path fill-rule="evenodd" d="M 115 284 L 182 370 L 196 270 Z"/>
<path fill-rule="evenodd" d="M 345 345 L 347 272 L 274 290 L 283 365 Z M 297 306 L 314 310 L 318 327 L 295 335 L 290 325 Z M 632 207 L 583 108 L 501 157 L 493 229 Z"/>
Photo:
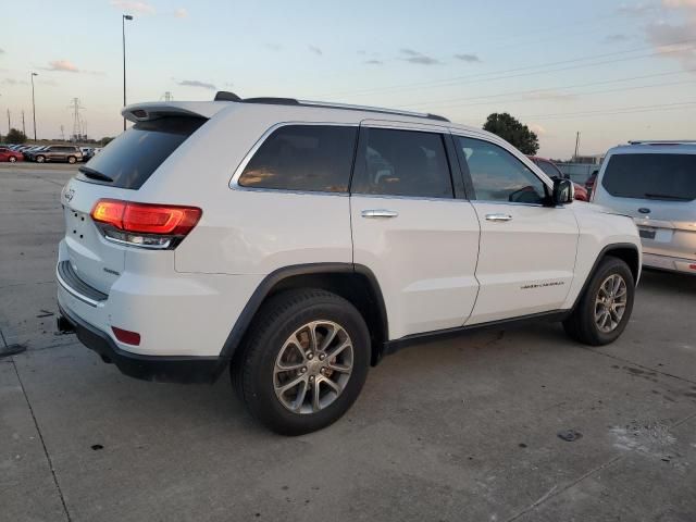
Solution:
<path fill-rule="evenodd" d="M 696 199 L 696 154 L 613 154 L 601 186 L 619 198 Z"/>

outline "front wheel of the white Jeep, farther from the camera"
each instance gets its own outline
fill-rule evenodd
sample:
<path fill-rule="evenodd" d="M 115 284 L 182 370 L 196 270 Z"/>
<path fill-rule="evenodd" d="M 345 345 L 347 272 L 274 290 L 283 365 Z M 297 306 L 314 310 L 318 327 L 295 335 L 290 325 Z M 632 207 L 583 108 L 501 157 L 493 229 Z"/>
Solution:
<path fill-rule="evenodd" d="M 563 328 L 585 345 L 613 343 L 629 323 L 634 296 L 631 269 L 625 261 L 608 256 L 599 263 L 571 315 L 563 321 Z"/>

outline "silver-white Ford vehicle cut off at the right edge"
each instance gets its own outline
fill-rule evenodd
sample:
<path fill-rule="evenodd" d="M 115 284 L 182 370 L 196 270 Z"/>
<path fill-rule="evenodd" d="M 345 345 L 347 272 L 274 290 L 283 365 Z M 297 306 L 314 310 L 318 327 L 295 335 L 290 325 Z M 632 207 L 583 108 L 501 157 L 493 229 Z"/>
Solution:
<path fill-rule="evenodd" d="M 614 147 L 592 199 L 635 220 L 645 266 L 696 275 L 696 141 Z"/>

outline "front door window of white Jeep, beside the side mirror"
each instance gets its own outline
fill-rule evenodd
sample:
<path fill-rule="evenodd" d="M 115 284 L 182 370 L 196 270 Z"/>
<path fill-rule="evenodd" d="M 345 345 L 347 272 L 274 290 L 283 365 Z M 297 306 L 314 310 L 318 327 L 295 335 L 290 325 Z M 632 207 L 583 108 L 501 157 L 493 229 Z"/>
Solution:
<path fill-rule="evenodd" d="M 455 139 L 469 166 L 475 196 L 471 199 L 533 204 L 545 202 L 544 182 L 502 147 L 461 136 Z"/>

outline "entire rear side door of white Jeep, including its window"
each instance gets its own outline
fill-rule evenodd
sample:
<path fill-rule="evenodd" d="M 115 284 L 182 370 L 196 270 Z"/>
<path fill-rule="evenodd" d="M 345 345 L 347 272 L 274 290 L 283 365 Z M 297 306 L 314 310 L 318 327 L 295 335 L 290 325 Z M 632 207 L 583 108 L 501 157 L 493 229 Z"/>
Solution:
<path fill-rule="evenodd" d="M 461 326 L 478 288 L 480 227 L 471 203 L 455 199 L 457 160 L 432 126 L 369 125 L 351 184 L 353 261 L 380 282 L 390 339 Z"/>

